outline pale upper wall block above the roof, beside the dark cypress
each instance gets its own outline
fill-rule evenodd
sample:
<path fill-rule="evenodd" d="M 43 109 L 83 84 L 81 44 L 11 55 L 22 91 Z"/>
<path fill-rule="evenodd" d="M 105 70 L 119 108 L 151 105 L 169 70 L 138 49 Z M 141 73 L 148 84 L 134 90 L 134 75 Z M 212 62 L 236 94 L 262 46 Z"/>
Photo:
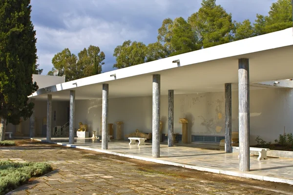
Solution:
<path fill-rule="evenodd" d="M 65 82 L 65 77 L 33 75 L 33 81 L 37 82 L 39 89 Z"/>

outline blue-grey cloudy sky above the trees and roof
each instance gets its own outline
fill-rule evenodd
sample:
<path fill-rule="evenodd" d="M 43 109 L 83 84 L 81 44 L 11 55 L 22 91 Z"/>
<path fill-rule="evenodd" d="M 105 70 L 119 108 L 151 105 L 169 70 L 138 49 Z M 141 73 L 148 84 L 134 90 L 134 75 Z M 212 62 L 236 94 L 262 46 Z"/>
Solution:
<path fill-rule="evenodd" d="M 232 19 L 252 22 L 267 15 L 276 0 L 217 0 Z M 113 70 L 114 48 L 125 40 L 155 42 L 166 18 L 188 18 L 201 0 L 31 0 L 40 68 L 47 74 L 55 54 L 69 48 L 78 54 L 90 44 L 105 52 L 103 72 Z"/>

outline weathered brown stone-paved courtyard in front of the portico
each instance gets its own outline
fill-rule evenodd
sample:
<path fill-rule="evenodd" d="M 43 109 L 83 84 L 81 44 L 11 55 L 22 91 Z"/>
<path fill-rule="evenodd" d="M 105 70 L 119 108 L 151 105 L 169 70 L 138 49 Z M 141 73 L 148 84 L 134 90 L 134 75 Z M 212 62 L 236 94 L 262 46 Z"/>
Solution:
<path fill-rule="evenodd" d="M 19 147 L 0 147 L 0 160 L 47 161 L 55 170 L 30 181 L 9 195 L 281 195 L 292 192 L 290 189 L 289 193 L 280 193 L 261 187 L 251 188 L 249 184 L 244 186 L 241 182 L 236 182 L 241 180 L 237 177 L 230 177 L 234 183 L 223 183 L 220 179 L 217 179 L 218 182 L 211 181 L 207 176 L 196 177 L 199 172 L 194 170 L 184 169 L 184 172 L 190 175 L 180 176 L 176 175 L 180 169 L 178 167 L 32 140 L 25 142 Z M 146 164 L 153 168 L 142 169 Z M 173 170 L 174 174 L 157 171 L 162 169 Z M 205 175 L 205 172 L 200 173 Z M 260 186 L 265 184 L 251 180 L 251 186 L 255 185 L 252 182 L 258 182 Z M 266 185 L 268 186 L 267 183 Z"/>

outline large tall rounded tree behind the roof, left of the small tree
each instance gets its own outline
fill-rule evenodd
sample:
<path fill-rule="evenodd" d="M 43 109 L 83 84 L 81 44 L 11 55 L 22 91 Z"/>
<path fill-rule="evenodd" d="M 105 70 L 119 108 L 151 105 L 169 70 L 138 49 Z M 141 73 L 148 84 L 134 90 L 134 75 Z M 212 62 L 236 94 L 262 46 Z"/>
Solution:
<path fill-rule="evenodd" d="M 192 30 L 204 48 L 230 42 L 234 31 L 231 14 L 216 0 L 203 0 L 198 12 L 188 18 Z"/>

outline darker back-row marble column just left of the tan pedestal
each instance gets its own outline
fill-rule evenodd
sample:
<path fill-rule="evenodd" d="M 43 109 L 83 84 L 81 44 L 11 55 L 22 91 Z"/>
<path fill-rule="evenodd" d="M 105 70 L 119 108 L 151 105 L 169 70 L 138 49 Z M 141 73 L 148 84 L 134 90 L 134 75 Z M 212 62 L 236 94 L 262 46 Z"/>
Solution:
<path fill-rule="evenodd" d="M 174 90 L 168 90 L 168 147 L 173 146 L 174 134 Z"/>

